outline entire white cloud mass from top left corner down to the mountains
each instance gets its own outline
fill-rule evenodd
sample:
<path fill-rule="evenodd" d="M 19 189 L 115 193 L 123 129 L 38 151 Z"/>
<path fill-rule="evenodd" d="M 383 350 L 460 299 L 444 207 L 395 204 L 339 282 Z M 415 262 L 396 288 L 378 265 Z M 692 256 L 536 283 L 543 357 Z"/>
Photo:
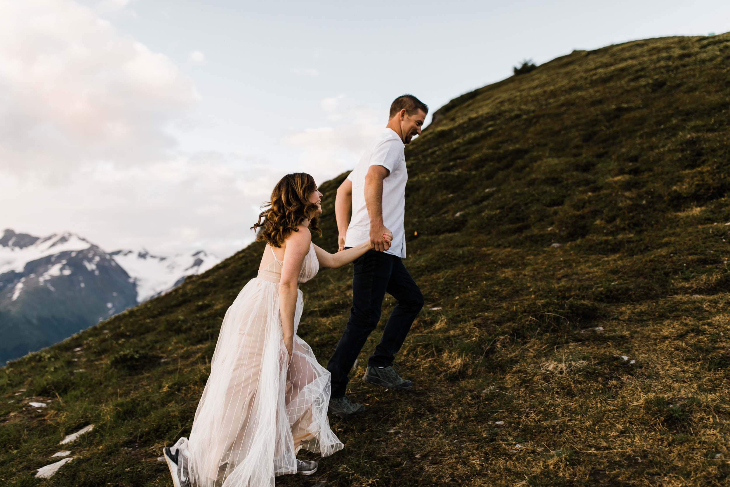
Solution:
<path fill-rule="evenodd" d="M 181 152 L 172 134 L 199 96 L 169 58 L 73 1 L 0 0 L 0 59 L 0 207 L 12 209 L 0 230 L 219 256 L 253 240 L 281 174 L 250 156 Z"/>

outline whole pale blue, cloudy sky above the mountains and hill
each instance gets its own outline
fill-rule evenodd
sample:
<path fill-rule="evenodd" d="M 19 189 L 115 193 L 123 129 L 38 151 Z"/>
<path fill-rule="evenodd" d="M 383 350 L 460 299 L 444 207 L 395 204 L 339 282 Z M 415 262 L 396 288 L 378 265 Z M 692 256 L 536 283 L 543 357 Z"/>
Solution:
<path fill-rule="evenodd" d="M 396 96 L 433 112 L 524 59 L 726 31 L 715 0 L 0 0 L 0 230 L 230 256 L 281 176 L 352 169 Z"/>

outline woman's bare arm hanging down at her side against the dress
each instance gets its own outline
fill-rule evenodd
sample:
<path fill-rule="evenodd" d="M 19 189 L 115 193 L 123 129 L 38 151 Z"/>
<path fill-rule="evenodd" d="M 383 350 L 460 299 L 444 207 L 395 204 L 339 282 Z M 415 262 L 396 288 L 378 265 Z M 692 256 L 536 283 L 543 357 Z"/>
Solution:
<path fill-rule="evenodd" d="M 284 345 L 291 357 L 294 340 L 294 312 L 298 297 L 299 272 L 304 257 L 310 251 L 312 234 L 306 226 L 299 226 L 299 231 L 293 231 L 286 239 L 284 249 L 284 265 L 281 269 L 279 283 L 279 314 L 284 333 Z"/>

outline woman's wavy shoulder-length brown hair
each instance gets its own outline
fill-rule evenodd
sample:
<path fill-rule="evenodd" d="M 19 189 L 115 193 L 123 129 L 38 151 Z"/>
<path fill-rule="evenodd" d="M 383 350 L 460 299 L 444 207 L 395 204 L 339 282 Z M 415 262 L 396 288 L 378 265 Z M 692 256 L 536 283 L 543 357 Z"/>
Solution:
<path fill-rule="evenodd" d="M 256 242 L 264 240 L 272 247 L 281 247 L 286 237 L 292 231 L 299 231 L 299 225 L 307 219 L 310 219 L 310 230 L 321 237 L 322 231 L 317 226 L 319 208 L 310 202 L 315 191 L 315 178 L 306 172 L 282 177 L 274 186 L 271 201 L 261 205 L 261 208 L 268 208 L 258 215 L 258 221 L 251 227 L 254 231 L 261 227 Z"/>

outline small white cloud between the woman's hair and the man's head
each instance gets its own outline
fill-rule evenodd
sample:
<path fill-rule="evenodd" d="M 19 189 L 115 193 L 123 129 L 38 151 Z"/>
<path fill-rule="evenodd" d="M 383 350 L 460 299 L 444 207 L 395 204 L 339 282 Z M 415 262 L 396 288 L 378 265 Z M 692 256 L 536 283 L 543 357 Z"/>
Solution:
<path fill-rule="evenodd" d="M 345 95 L 323 99 L 320 110 L 331 126 L 290 129 L 285 136 L 286 143 L 304 147 L 301 165 L 318 182 L 352 169 L 388 123 L 387 110 L 362 107 Z"/>

